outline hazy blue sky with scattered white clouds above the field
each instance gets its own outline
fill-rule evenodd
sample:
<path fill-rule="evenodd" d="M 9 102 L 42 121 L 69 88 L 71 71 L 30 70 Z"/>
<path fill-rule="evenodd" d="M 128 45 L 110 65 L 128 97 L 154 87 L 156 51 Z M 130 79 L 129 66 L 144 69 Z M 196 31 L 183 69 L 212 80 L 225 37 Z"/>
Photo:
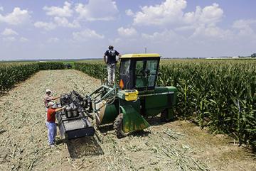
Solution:
<path fill-rule="evenodd" d="M 246 56 L 255 0 L 0 0 L 0 60 Z"/>

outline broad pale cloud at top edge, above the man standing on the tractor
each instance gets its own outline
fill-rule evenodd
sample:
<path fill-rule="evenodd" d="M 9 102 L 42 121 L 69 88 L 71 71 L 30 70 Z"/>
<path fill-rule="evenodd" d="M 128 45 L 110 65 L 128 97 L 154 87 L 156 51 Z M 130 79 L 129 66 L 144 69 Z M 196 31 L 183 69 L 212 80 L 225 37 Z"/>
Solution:
<path fill-rule="evenodd" d="M 88 4 L 77 4 L 75 11 L 80 19 L 87 21 L 110 21 L 118 13 L 117 5 L 112 0 L 89 0 Z"/>

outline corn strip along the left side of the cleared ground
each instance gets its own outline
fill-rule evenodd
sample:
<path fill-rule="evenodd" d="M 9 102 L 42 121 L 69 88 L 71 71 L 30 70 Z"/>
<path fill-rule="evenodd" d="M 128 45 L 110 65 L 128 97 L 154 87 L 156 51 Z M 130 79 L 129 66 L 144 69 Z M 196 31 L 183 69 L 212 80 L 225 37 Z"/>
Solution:
<path fill-rule="evenodd" d="M 0 92 L 8 91 L 39 70 L 57 69 L 65 69 L 65 65 L 61 62 L 4 63 L 0 65 Z"/>

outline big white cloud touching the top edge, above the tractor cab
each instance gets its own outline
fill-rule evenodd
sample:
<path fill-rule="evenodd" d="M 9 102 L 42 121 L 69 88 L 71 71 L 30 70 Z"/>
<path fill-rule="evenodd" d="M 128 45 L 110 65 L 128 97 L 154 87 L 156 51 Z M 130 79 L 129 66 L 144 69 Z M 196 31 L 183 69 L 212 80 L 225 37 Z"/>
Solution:
<path fill-rule="evenodd" d="M 181 20 L 185 8 L 185 0 L 166 0 L 155 6 L 143 6 L 141 7 L 142 11 L 134 15 L 134 24 L 164 25 L 176 23 Z"/>

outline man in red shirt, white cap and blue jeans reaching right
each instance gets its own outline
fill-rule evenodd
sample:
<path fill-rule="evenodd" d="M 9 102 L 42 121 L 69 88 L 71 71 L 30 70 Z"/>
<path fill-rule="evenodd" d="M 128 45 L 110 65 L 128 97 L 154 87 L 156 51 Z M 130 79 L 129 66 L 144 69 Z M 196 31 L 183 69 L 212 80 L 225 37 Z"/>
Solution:
<path fill-rule="evenodd" d="M 48 102 L 48 111 L 47 111 L 47 122 L 46 122 L 46 126 L 48 128 L 48 143 L 50 145 L 50 147 L 54 147 L 54 143 L 55 143 L 55 136 L 57 134 L 57 126 L 55 123 L 55 115 L 56 112 L 61 111 L 63 109 L 65 109 L 65 106 L 63 106 L 62 108 L 58 108 L 55 109 L 53 106 L 55 104 L 53 103 L 53 101 Z"/>

